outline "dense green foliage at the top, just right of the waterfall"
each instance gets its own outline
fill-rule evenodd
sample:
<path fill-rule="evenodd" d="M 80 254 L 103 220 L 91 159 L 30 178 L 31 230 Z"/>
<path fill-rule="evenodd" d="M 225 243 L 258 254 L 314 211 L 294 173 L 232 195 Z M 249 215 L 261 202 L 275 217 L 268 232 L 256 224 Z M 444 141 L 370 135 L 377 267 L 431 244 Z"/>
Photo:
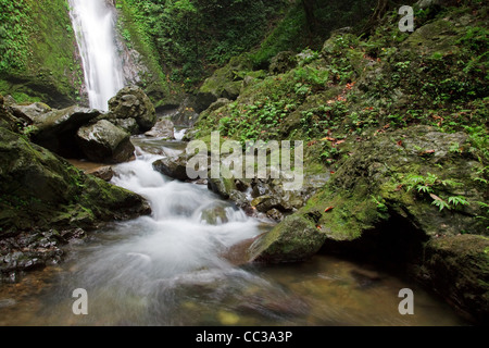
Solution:
<path fill-rule="evenodd" d="M 191 87 L 263 39 L 285 1 L 123 0 L 118 8 L 145 37 L 168 77 Z M 134 37 L 135 35 L 133 35 Z"/>

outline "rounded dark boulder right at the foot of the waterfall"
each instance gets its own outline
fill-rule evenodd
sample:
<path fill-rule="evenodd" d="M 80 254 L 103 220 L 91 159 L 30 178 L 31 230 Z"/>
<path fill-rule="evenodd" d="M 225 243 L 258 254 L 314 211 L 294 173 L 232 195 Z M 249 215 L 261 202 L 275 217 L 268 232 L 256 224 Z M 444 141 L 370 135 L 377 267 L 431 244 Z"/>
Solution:
<path fill-rule="evenodd" d="M 150 130 L 156 123 L 156 111 L 145 91 L 137 86 L 121 89 L 109 100 L 109 119 L 134 119 L 140 133 Z"/>

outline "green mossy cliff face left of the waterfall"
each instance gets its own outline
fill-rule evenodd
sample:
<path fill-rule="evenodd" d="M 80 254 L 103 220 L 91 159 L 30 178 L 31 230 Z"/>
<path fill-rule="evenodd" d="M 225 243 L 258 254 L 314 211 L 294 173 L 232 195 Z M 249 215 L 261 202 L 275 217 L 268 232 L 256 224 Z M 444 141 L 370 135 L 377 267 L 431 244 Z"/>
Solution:
<path fill-rule="evenodd" d="M 82 85 L 66 0 L 1 0 L 0 92 L 58 107 L 79 100 Z"/>

